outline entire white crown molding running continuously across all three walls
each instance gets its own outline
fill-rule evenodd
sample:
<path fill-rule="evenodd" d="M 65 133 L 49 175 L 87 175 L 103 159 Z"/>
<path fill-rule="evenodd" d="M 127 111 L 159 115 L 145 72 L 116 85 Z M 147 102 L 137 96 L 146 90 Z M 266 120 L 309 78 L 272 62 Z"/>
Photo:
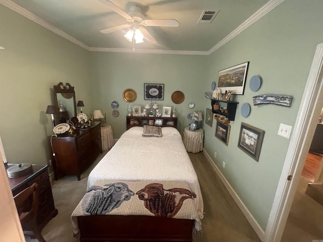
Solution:
<path fill-rule="evenodd" d="M 253 23 L 258 21 L 264 15 L 272 11 L 278 5 L 283 3 L 285 0 L 271 0 L 267 4 L 265 4 L 262 8 L 260 8 L 256 13 L 254 13 L 250 18 L 248 18 L 245 22 L 243 22 L 238 28 L 232 31 L 228 36 L 226 36 L 223 40 L 219 43 L 214 45 L 208 51 L 189 51 L 189 50 L 161 50 L 161 49 L 136 49 L 133 51 L 132 49 L 126 48 L 100 48 L 100 47 L 89 47 L 86 44 L 82 43 L 81 41 L 77 40 L 76 38 L 72 37 L 71 35 L 65 33 L 64 31 L 52 26 L 51 24 L 47 23 L 43 19 L 37 17 L 36 15 L 30 13 L 26 9 L 20 7 L 19 5 L 11 2 L 10 0 L 0 0 L 0 4 L 6 6 L 7 8 L 17 12 L 18 14 L 30 19 L 31 21 L 41 25 L 42 27 L 60 35 L 61 37 L 71 41 L 74 44 L 79 45 L 80 47 L 88 50 L 88 51 L 101 51 L 101 52 L 123 52 L 123 53 L 151 53 L 151 54 L 189 54 L 189 55 L 209 55 L 219 49 L 221 46 L 225 45 L 231 39 L 236 37 L 246 28 L 251 26 Z"/>

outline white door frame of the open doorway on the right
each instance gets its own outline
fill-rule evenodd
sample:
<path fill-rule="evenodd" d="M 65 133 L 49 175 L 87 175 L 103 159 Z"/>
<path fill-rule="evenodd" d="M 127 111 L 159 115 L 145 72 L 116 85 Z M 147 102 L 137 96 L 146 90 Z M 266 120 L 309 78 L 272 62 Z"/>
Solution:
<path fill-rule="evenodd" d="M 323 106 L 323 43 L 315 50 L 294 131 L 286 154 L 264 241 L 279 242 L 295 197 L 298 182 Z M 291 180 L 287 177 L 292 175 Z"/>

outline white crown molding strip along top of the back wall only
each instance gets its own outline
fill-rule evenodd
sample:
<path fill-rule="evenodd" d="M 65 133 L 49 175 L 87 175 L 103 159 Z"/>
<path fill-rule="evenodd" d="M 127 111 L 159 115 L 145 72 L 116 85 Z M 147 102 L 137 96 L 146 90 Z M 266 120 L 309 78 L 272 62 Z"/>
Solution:
<path fill-rule="evenodd" d="M 188 50 L 163 50 L 163 49 L 126 49 L 126 48 L 96 48 L 90 47 L 90 51 L 100 52 L 123 52 L 123 53 L 147 53 L 147 54 L 190 54 L 208 55 L 207 51 L 188 51 Z"/>

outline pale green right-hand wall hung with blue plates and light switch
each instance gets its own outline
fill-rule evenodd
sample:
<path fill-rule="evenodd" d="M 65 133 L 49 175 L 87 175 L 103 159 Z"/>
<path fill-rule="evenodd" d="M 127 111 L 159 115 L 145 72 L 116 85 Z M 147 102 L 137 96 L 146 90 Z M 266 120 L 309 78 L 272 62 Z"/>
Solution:
<path fill-rule="evenodd" d="M 204 148 L 211 157 L 217 152 L 214 163 L 263 229 L 290 143 L 277 135 L 278 128 L 280 123 L 294 128 L 314 51 L 317 44 L 323 42 L 322 9 L 321 1 L 309 4 L 287 0 L 207 56 L 214 67 L 209 69 L 209 78 L 225 68 L 250 62 L 244 95 L 235 95 L 239 105 L 236 119 L 230 123 L 229 145 L 214 138 L 216 122 L 213 122 L 212 128 L 204 126 Z M 254 75 L 263 81 L 257 92 L 249 88 L 249 80 Z M 253 106 L 252 97 L 265 93 L 291 95 L 292 106 Z M 245 102 L 251 105 L 251 113 L 246 118 L 240 113 Z M 265 131 L 258 162 L 237 147 L 241 122 Z"/>

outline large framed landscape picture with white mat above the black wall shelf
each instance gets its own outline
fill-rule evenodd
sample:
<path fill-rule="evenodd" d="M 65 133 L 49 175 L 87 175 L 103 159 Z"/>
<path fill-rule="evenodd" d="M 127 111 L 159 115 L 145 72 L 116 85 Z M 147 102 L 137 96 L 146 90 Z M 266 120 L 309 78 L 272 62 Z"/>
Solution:
<path fill-rule="evenodd" d="M 231 94 L 243 95 L 248 66 L 249 62 L 246 62 L 220 71 L 218 75 L 218 88 L 221 90 L 221 93 L 231 90 Z"/>

